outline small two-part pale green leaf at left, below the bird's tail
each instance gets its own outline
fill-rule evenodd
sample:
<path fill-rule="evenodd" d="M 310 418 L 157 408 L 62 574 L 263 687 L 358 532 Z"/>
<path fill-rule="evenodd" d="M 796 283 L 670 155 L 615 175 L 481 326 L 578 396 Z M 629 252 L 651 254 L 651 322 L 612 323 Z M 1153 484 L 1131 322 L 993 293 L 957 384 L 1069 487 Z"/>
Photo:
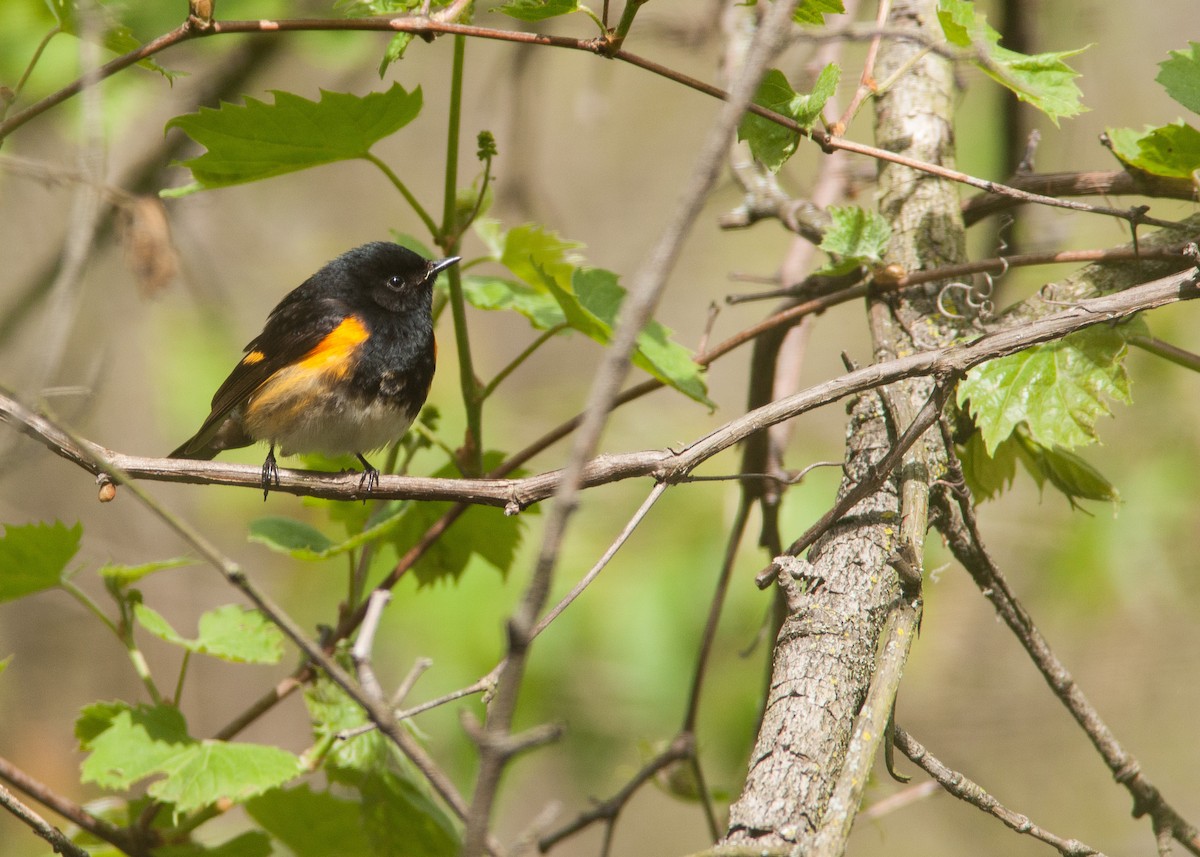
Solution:
<path fill-rule="evenodd" d="M 196 640 L 180 636 L 161 615 L 144 604 L 134 604 L 133 615 L 150 634 L 196 654 L 234 664 L 277 664 L 283 657 L 283 634 L 257 610 L 235 604 L 210 610 L 200 616 Z"/>

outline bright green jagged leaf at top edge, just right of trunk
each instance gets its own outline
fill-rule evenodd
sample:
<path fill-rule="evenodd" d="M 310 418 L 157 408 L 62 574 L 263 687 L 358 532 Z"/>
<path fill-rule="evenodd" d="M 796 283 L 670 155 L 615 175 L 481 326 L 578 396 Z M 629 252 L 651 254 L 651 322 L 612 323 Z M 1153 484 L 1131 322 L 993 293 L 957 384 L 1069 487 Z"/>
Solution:
<path fill-rule="evenodd" d="M 982 56 L 973 55 L 972 61 L 1018 98 L 1050 116 L 1055 125 L 1060 119 L 1086 109 L 1080 101 L 1082 92 L 1075 85 L 1079 72 L 1063 62 L 1086 50 L 1086 47 L 1033 55 L 1002 48 L 1000 34 L 968 0 L 938 0 L 937 19 L 947 41 L 982 52 Z"/>

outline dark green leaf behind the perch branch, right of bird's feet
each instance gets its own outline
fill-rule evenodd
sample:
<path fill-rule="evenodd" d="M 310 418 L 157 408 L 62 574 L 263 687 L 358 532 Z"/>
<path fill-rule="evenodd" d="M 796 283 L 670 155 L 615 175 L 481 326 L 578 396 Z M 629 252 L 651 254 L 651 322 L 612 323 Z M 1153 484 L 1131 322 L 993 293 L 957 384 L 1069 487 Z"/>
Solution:
<path fill-rule="evenodd" d="M 484 454 L 484 471 L 491 471 L 500 465 L 504 455 L 497 451 Z M 433 477 L 452 479 L 461 475 L 454 462 L 437 471 Z M 389 537 L 396 550 L 403 553 L 425 534 L 434 521 L 442 517 L 451 503 L 413 503 L 401 519 L 400 526 Z M 505 515 L 503 509 L 486 505 L 472 505 L 455 522 L 448 538 L 438 539 L 433 546 L 416 562 L 414 571 L 422 585 L 437 580 L 457 580 L 472 556 L 486 559 L 502 576 L 508 575 L 516 556 L 517 546 L 524 529 L 521 515 Z"/>

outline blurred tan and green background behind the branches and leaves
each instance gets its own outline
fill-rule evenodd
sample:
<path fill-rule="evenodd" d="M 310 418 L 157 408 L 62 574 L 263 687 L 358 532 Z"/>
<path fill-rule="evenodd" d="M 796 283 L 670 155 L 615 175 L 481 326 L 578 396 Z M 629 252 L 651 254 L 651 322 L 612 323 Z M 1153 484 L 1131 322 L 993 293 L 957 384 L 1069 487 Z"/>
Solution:
<path fill-rule="evenodd" d="M 1001 29 L 1001 10 L 982 4 Z M 478 23 L 511 25 L 485 10 Z M 719 4 L 655 0 L 648 4 L 626 47 L 673 68 L 712 80 L 720 53 Z M 1200 37 L 1194 0 L 1160 0 L 1153 14 L 1133 4 L 1081 0 L 1031 1 L 1036 49 L 1094 43 L 1073 60 L 1091 113 L 1061 128 L 1028 112 L 1042 144 L 1038 172 L 1110 169 L 1114 158 L 1097 142 L 1110 126 L 1141 127 L 1172 121 L 1178 108 L 1153 84 L 1157 64 L 1170 49 Z M 131 4 L 119 14 L 139 40 L 178 25 L 181 5 Z M 223 18 L 326 14 L 320 4 L 224 0 Z M 0 4 L 0 82 L 14 80 L 50 24 L 38 0 Z M 584 32 L 586 22 L 554 24 Z M 572 29 L 574 28 L 574 29 Z M 206 82 L 234 61 L 262 62 L 239 95 L 266 97 L 286 89 L 316 97 L 318 88 L 366 94 L 392 80 L 420 85 L 425 109 L 378 154 L 401 173 L 427 208 L 439 208 L 444 157 L 445 90 L 450 42 L 414 43 L 379 80 L 376 68 L 386 36 L 307 34 L 271 41 L 236 36 L 199 40 L 160 56 L 181 72 L 173 85 L 158 74 L 130 70 L 106 82 L 101 103 L 108 175 L 128 176 L 146 152 L 161 150 L 163 126 L 194 110 Z M 788 55 L 793 67 L 806 46 Z M 842 86 L 857 80 L 851 48 Z M 36 97 L 74 78 L 78 43 L 50 42 L 28 84 Z M 785 62 L 782 67 L 788 67 Z M 978 73 L 964 68 L 958 120 L 959 166 L 976 175 L 1003 179 L 1000 126 L 1004 96 Z M 586 244 L 589 263 L 628 274 L 644 257 L 676 203 L 694 161 L 694 146 L 715 103 L 622 64 L 571 52 L 469 42 L 467 47 L 463 158 L 469 181 L 476 163 L 469 140 L 480 130 L 496 134 L 496 202 L 491 216 L 512 226 L 538 221 L 564 238 Z M 176 132 L 172 132 L 173 134 Z M 80 101 L 22 128 L 0 157 L 38 158 L 70 167 L 80 143 Z M 864 113 L 848 136 L 870 140 Z M 181 152 L 187 155 L 190 152 Z M 803 194 L 821 157 L 802 151 L 784 174 Z M 860 164 L 870 173 L 871 164 Z M 186 181 L 181 170 L 155 172 L 161 185 Z M 150 188 L 156 190 L 156 188 Z M 24 379 L 38 377 L 47 331 L 66 325 L 70 349 L 50 384 L 49 401 L 76 430 L 130 454 L 156 455 L 186 437 L 208 410 L 216 384 L 258 330 L 266 311 L 322 263 L 356 244 L 386 238 L 389 230 L 419 233 L 420 223 L 365 163 L 338 163 L 266 182 L 168 200 L 179 248 L 180 274 L 161 293 L 138 290 L 122 260 L 119 240 L 106 238 L 88 265 L 70 305 L 42 301 L 30 311 L 22 299 L 44 282 L 60 253 L 71 188 L 31 180 L 0 168 L 0 312 L 19 314 L 0 341 L 0 383 L 25 395 Z M 870 204 L 865 186 L 863 204 Z M 659 314 L 679 341 L 696 347 L 709 306 L 752 289 L 732 272 L 773 274 L 791 240 L 775 223 L 722 232 L 716 218 L 739 202 L 724 181 L 685 246 Z M 1139 202 L 1139 200 L 1130 200 Z M 1194 206 L 1154 203 L 1159 217 L 1182 217 Z M 974 256 L 994 254 L 994 227 L 978 227 Z M 1009 235 L 1012 240 L 1014 236 Z M 1061 210 L 1022 212 L 1015 228 L 1022 250 L 1110 246 L 1127 240 L 1123 226 Z M 468 238 L 468 253 L 481 251 Z M 1057 269 L 1024 269 L 1001 281 L 1000 305 L 1038 288 Z M 713 340 L 757 320 L 761 304 L 722 306 Z M 1195 307 L 1180 305 L 1151 319 L 1154 334 L 1200 350 Z M 462 437 L 449 318 L 440 326 L 442 364 L 431 402 L 442 414 L 440 433 L 451 445 Z M 472 312 L 476 366 L 491 376 L 529 341 L 524 319 Z M 804 379 L 839 374 L 839 353 L 868 360 L 860 307 L 842 306 L 815 325 Z M 577 413 L 596 364 L 599 347 L 580 336 L 558 337 L 502 388 L 486 413 L 486 445 L 512 451 Z M 635 450 L 685 443 L 737 415 L 744 406 L 748 349 L 709 372 L 709 394 L 719 409 L 671 391 L 659 391 L 620 409 L 605 437 L 607 450 Z M 490 370 L 487 367 L 491 367 Z M 1200 604 L 1200 379 L 1156 358 L 1136 353 L 1130 362 L 1134 406 L 1100 426 L 1103 447 L 1085 453 L 1121 491 L 1116 508 L 1091 505 L 1072 513 L 1060 496 L 1039 497 L 1028 479 L 982 511 L 985 537 L 1058 654 L 1110 719 L 1118 737 L 1140 756 L 1151 778 L 1188 817 L 1200 817 L 1200 645 L 1194 616 Z M 841 457 L 841 408 L 805 416 L 788 454 L 792 467 Z M 562 462 L 564 445 L 532 463 L 534 471 Z M 258 462 L 260 450 L 232 460 Z M 95 487 L 77 468 L 43 448 L 0 435 L 0 521 L 25 523 L 60 519 L 85 526 L 78 582 L 102 598 L 92 569 L 109 561 L 137 563 L 184 549 L 128 496 L 100 505 Z M 734 468 L 726 454 L 704 472 Z M 444 457 L 420 453 L 414 473 L 437 469 Z M 319 504 L 272 495 L 264 505 L 254 491 L 157 484 L 149 486 L 170 508 L 203 527 L 305 627 L 331 623 L 344 595 L 342 561 L 299 563 L 246 539 L 247 525 L 264 515 L 293 515 L 328 527 Z M 836 473 L 817 469 L 787 493 L 784 535 L 793 538 L 832 501 Z M 648 481 L 588 492 L 583 516 L 571 532 L 559 565 L 557 592 L 578 579 L 619 532 Z M 563 802 L 560 817 L 604 797 L 624 783 L 647 747 L 670 739 L 678 727 L 691 677 L 696 643 L 737 502 L 731 483 L 672 489 L 654 508 L 613 564 L 587 594 L 539 640 L 522 695 L 518 726 L 559 720 L 566 737 L 516 766 L 502 792 L 500 834 L 515 835 L 550 799 Z M 493 511 L 491 514 L 499 514 Z M 464 685 L 490 670 L 503 652 L 503 622 L 518 597 L 538 541 L 540 521 L 527 517 L 524 541 L 509 580 L 474 559 L 456 585 L 419 587 L 403 581 L 388 610 L 377 645 L 385 687 L 395 685 L 414 659 L 433 667 L 420 679 L 412 702 Z M 754 525 L 751 525 L 754 527 Z M 330 531 L 332 532 L 332 531 Z M 751 529 L 754 533 L 754 529 Z M 454 531 L 448 537 L 454 538 Z M 392 561 L 385 552 L 380 568 Z M 758 639 L 769 597 L 752 585 L 766 557 L 746 540 L 722 618 L 700 720 L 700 744 L 709 783 L 736 795 L 754 736 L 766 675 L 766 641 Z M 1086 739 L 1051 699 L 1015 642 L 998 624 L 971 582 L 938 546 L 926 568 L 926 611 L 901 690 L 898 720 L 947 763 L 984 784 L 1014 809 L 1062 834 L 1079 835 L 1109 852 L 1145 851 L 1145 822 L 1129 819 L 1124 793 Z M 200 612 L 236 600 L 220 577 L 197 565 L 163 573 L 142 586 L 148 604 L 184 633 Z M 170 675 L 178 652 L 146 643 L 151 666 Z M 0 677 L 0 755 L 79 801 L 100 797 L 78 783 L 72 720 L 97 699 L 138 700 L 142 688 L 119 646 L 83 610 L 60 593 L 0 605 L 0 657 L 13 661 Z M 232 666 L 194 659 L 182 708 L 196 735 L 210 735 L 241 712 L 290 669 Z M 463 708 L 480 713 L 478 699 L 421 715 L 419 727 L 456 781 L 469 783 L 474 754 L 460 725 Z M 310 733 L 299 697 L 256 723 L 247 739 L 302 750 Z M 901 766 L 902 767 L 902 766 Z M 900 786 L 881 778 L 869 790 L 876 801 Z M 230 814 L 228 829 L 236 829 Z M 594 853 L 599 831 L 560 846 L 556 853 Z M 694 805 L 664 792 L 644 792 L 618 826 L 616 853 L 682 853 L 706 844 Z M 1040 853 L 1040 846 L 1013 837 L 976 810 L 944 796 L 880 820 L 863 817 L 852 839 L 854 853 L 983 855 Z M 40 841 L 0 816 L 0 855 L 43 853 Z"/>

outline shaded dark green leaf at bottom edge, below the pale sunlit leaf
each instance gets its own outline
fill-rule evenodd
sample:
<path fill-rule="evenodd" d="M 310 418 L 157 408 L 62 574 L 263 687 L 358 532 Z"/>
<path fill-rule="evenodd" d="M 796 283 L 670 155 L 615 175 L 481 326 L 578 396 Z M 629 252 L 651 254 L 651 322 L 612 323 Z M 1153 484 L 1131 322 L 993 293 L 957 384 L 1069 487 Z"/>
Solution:
<path fill-rule="evenodd" d="M 252 798 L 246 803 L 246 811 L 295 857 L 371 853 L 356 801 L 301 785 L 274 789 Z"/>

